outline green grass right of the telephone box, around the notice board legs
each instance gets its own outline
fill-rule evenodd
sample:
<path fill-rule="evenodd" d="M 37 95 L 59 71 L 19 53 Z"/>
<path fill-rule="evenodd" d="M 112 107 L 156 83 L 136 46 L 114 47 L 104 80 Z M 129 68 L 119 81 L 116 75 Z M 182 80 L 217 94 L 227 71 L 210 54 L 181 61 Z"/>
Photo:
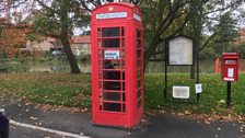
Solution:
<path fill-rule="evenodd" d="M 168 74 L 167 101 L 164 101 L 163 74 L 145 74 L 145 107 L 164 108 L 166 111 L 191 111 L 192 113 L 222 113 L 226 111 L 226 82 L 221 81 L 220 74 L 200 74 L 202 93 L 200 103 L 196 104 L 196 80 L 189 74 Z M 237 114 L 245 114 L 245 74 L 240 74 L 237 83 L 232 83 L 232 107 Z M 190 87 L 189 103 L 185 100 L 172 99 L 173 85 Z"/>

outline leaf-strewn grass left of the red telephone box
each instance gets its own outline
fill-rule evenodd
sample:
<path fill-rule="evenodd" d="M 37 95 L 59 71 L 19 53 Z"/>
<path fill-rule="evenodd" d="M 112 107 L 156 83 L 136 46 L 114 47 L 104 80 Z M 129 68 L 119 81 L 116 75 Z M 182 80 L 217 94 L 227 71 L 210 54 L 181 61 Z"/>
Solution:
<path fill-rule="evenodd" d="M 70 73 L 0 74 L 0 95 L 39 104 L 91 107 L 91 78 Z"/>

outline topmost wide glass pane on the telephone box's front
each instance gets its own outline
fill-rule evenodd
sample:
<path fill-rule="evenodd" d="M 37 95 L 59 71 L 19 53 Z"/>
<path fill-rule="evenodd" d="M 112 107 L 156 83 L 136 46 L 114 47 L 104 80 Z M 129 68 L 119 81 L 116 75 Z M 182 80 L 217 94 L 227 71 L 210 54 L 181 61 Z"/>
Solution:
<path fill-rule="evenodd" d="M 102 36 L 103 37 L 120 36 L 120 27 L 102 28 Z"/>

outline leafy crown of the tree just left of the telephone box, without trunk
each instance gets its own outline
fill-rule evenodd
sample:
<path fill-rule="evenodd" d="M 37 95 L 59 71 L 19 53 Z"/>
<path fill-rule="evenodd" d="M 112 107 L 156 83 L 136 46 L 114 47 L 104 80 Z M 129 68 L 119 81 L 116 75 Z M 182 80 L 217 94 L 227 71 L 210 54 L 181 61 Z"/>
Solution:
<path fill-rule="evenodd" d="M 74 27 L 86 26 L 90 23 L 90 14 L 75 0 L 54 0 L 50 7 L 46 3 L 42 3 L 42 10 L 30 19 L 36 33 L 59 36 L 63 24 L 72 35 Z M 61 20 L 65 14 L 69 15 L 67 21 Z"/>

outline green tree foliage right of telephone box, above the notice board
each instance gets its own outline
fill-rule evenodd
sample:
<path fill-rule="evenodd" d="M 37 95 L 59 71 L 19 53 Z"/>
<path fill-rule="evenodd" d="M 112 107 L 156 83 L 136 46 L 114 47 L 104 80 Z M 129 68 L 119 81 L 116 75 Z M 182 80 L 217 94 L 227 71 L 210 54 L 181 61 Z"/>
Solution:
<path fill-rule="evenodd" d="M 238 9 L 241 2 L 241 0 L 229 3 L 209 0 L 143 1 L 140 7 L 144 14 L 145 61 L 158 49 L 162 49 L 158 48 L 162 46 L 160 45 L 162 42 L 178 34 L 196 38 L 197 44 L 200 44 L 200 50 L 212 47 L 203 51 L 205 54 L 213 49 L 217 53 L 214 56 L 230 51 L 230 42 L 236 36 L 237 26 L 234 11 Z M 207 37 L 207 34 L 210 36 Z M 202 55 L 202 58 L 209 56 L 210 54 Z"/>

